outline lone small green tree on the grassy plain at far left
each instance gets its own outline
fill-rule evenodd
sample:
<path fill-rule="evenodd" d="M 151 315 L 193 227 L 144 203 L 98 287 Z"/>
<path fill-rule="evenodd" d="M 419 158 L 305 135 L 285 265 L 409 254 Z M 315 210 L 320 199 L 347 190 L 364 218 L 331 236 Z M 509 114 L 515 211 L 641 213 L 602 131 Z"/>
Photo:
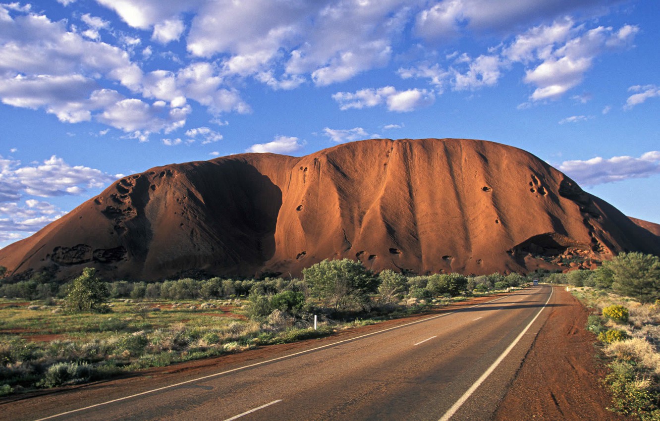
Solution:
<path fill-rule="evenodd" d="M 67 311 L 95 311 L 104 313 L 108 311 L 108 289 L 96 277 L 96 269 L 86 267 L 82 275 L 69 284 L 67 296 L 64 298 L 64 307 Z"/>

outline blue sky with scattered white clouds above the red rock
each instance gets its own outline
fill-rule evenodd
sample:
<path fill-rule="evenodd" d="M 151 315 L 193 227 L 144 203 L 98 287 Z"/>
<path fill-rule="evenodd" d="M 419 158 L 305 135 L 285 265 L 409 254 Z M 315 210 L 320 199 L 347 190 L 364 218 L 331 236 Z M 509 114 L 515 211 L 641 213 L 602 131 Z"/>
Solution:
<path fill-rule="evenodd" d="M 0 247 L 122 175 L 386 137 L 532 152 L 660 223 L 660 3 L 0 3 Z"/>

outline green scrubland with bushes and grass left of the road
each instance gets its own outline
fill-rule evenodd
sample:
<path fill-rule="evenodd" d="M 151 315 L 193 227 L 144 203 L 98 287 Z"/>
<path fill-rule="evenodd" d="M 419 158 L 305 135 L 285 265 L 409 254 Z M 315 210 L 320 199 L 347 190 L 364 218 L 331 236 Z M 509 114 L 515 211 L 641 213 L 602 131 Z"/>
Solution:
<path fill-rule="evenodd" d="M 520 286 L 525 276 L 373 273 L 325 260 L 303 277 L 0 285 L 0 395 L 329 335 Z M 319 320 L 312 327 L 314 315 Z"/>

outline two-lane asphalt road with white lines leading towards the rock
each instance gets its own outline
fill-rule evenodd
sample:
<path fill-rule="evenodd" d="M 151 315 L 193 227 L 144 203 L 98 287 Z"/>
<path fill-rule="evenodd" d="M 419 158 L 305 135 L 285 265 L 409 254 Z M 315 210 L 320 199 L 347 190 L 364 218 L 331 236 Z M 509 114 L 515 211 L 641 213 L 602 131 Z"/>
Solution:
<path fill-rule="evenodd" d="M 121 388 L 86 397 L 81 388 L 0 405 L 0 418 L 489 420 L 546 320 L 543 309 L 561 305 L 554 298 L 550 286 L 535 286 L 366 335 L 310 341 L 290 356 L 278 348 L 165 385 L 143 379 L 133 397 Z"/>

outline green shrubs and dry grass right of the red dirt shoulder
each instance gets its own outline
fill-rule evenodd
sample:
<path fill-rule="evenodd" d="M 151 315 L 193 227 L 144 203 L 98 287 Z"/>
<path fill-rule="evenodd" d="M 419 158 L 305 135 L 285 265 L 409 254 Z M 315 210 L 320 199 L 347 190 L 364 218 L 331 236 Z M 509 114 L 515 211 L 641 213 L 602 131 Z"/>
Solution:
<path fill-rule="evenodd" d="M 605 379 L 613 409 L 660 420 L 660 264 L 657 256 L 621 253 L 595 271 L 550 275 L 574 286 L 592 310 L 587 329 L 609 358 Z"/>

